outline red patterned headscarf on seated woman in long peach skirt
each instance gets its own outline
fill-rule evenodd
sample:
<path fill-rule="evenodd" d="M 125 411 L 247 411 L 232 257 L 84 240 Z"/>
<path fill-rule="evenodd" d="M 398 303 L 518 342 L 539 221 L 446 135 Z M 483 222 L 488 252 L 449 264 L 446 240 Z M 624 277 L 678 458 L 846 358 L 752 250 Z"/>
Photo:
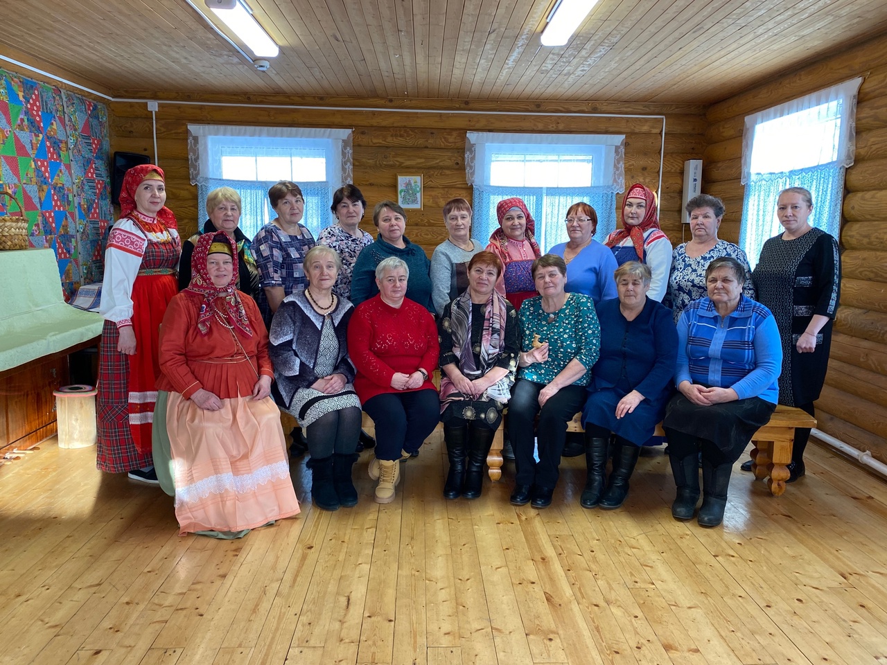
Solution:
<path fill-rule="evenodd" d="M 209 248 L 213 243 L 224 243 L 231 249 L 232 255 L 232 277 L 228 286 L 216 286 L 213 284 L 212 278 L 209 277 L 207 269 L 207 260 L 209 257 Z M 213 317 L 218 314 L 224 317 L 227 325 L 234 325 L 247 337 L 253 334 L 252 328 L 249 327 L 249 319 L 247 312 L 243 309 L 243 301 L 240 300 L 240 292 L 235 286 L 237 284 L 237 243 L 234 239 L 224 231 L 216 231 L 215 233 L 204 233 L 197 239 L 197 245 L 194 246 L 194 253 L 191 257 L 191 284 L 185 289 L 192 293 L 199 293 L 203 296 L 203 302 L 200 304 L 200 314 L 197 317 L 197 327 L 201 335 L 209 332 L 209 324 L 212 323 Z M 216 299 L 223 301 L 224 306 L 218 309 Z"/>

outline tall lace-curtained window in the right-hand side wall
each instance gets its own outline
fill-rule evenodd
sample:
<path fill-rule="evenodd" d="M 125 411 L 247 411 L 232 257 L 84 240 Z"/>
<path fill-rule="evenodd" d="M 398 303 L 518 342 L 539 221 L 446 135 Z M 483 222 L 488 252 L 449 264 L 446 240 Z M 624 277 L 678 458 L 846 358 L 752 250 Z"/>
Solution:
<path fill-rule="evenodd" d="M 844 171 L 853 163 L 856 95 L 861 82 L 861 78 L 853 79 L 746 116 L 740 245 L 752 267 L 765 240 L 781 231 L 776 199 L 787 187 L 810 190 L 810 222 L 838 237 Z"/>

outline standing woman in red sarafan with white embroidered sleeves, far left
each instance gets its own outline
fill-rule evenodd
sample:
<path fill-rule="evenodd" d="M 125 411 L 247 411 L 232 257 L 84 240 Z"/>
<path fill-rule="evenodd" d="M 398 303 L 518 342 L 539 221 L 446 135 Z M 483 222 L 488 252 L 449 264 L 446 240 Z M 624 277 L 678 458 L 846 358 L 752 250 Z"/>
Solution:
<path fill-rule="evenodd" d="M 121 218 L 111 229 L 99 312 L 105 317 L 98 364 L 100 471 L 157 483 L 151 457 L 157 338 L 177 293 L 182 244 L 176 217 L 164 206 L 161 168 L 130 168 L 120 193 Z"/>

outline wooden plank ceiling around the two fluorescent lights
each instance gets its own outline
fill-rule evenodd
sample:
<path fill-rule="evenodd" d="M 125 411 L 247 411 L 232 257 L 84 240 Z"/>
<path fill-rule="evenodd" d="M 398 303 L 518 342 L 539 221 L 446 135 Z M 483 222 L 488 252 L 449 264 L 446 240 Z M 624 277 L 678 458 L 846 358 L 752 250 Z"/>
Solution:
<path fill-rule="evenodd" d="M 202 0 L 194 0 L 208 12 Z M 553 0 L 247 0 L 280 46 L 257 72 L 184 0 L 18 0 L 0 52 L 153 91 L 707 104 L 887 31 L 883 0 L 600 0 L 539 44 Z M 2 66 L 2 61 L 0 61 Z"/>

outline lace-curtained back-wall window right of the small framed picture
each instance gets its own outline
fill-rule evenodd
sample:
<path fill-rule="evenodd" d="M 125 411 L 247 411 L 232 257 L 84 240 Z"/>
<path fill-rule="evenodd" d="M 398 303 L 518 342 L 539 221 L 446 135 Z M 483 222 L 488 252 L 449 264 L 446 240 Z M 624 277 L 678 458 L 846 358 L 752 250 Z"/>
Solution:
<path fill-rule="evenodd" d="M 527 204 L 543 250 L 566 242 L 563 220 L 582 200 L 598 213 L 595 239 L 606 239 L 616 228 L 623 161 L 622 135 L 468 132 L 465 163 L 475 190 L 475 239 L 486 244 L 498 228 L 496 204 L 512 196 Z"/>

